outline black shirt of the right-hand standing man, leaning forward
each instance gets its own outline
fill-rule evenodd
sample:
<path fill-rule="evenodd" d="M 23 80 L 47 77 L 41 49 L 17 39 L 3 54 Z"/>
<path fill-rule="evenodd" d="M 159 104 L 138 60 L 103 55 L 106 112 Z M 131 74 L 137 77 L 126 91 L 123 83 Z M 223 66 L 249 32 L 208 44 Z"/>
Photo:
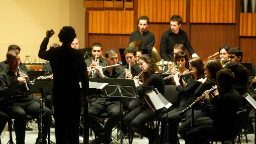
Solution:
<path fill-rule="evenodd" d="M 171 29 L 163 33 L 160 44 L 160 55 L 165 61 L 173 60 L 173 48 L 176 44 L 183 44 L 188 50 L 189 54 L 195 53 L 191 47 L 186 32 L 179 30 L 178 34 L 174 34 Z"/>

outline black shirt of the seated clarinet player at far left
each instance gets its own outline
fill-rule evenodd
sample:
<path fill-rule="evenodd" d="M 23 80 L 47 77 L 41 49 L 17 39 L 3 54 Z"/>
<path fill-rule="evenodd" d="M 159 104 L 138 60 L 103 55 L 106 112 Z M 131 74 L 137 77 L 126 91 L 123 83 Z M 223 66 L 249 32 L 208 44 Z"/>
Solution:
<path fill-rule="evenodd" d="M 22 70 L 22 73 L 28 75 L 25 71 Z M 6 69 L 3 72 L 0 73 L 0 95 L 1 98 L 3 98 L 4 95 L 8 95 L 8 102 L 25 102 L 31 100 L 28 98 L 28 94 L 25 94 L 27 92 L 27 88 L 25 87 L 25 83 L 18 83 L 17 78 L 20 77 L 20 74 L 18 73 L 15 75 L 13 71 Z M 15 85 L 12 92 L 10 92 L 10 84 Z M 29 81 L 27 81 L 27 84 L 29 86 Z"/>

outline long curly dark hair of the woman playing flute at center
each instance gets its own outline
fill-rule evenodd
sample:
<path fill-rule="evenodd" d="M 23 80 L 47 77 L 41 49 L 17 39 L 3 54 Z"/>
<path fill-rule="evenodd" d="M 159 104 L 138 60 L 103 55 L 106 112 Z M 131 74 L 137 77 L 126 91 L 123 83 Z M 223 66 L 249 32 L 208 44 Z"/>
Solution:
<path fill-rule="evenodd" d="M 149 55 L 142 55 L 139 58 L 139 61 L 140 60 L 145 61 L 149 65 L 148 72 L 143 73 L 143 82 L 144 83 L 148 80 L 148 78 L 151 74 L 156 73 L 156 72 L 161 72 L 160 69 L 158 68 L 156 62 L 154 61 L 154 59 L 152 59 L 152 57 L 150 57 Z"/>

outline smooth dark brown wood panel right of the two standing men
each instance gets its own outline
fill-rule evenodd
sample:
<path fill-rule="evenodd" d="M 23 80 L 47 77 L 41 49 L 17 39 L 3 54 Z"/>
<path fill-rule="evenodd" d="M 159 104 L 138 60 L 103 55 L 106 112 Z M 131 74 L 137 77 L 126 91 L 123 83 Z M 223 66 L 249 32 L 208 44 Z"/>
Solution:
<path fill-rule="evenodd" d="M 190 24 L 190 43 L 202 59 L 216 53 L 222 45 L 239 47 L 233 24 Z"/>

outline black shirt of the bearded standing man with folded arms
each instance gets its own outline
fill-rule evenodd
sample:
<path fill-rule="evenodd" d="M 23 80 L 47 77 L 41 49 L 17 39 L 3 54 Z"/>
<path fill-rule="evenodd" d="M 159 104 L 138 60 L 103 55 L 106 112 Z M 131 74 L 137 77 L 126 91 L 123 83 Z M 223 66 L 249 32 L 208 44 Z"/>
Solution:
<path fill-rule="evenodd" d="M 135 40 L 142 40 L 141 49 L 148 50 L 149 55 L 151 55 L 152 49 L 155 44 L 155 36 L 153 33 L 151 33 L 150 31 L 147 31 L 147 32 L 143 33 L 143 35 L 141 35 L 141 32 L 139 30 L 135 31 L 130 35 L 129 44 Z"/>

